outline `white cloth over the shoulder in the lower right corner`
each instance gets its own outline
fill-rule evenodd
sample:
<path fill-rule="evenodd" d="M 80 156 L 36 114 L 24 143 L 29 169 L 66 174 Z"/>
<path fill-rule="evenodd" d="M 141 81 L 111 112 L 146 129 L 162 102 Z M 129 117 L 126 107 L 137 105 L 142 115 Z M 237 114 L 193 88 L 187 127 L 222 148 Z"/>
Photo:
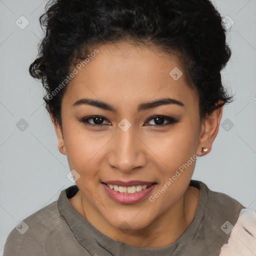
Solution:
<path fill-rule="evenodd" d="M 219 256 L 256 255 L 256 211 L 241 209 L 230 233 L 227 244 L 221 247 Z"/>

